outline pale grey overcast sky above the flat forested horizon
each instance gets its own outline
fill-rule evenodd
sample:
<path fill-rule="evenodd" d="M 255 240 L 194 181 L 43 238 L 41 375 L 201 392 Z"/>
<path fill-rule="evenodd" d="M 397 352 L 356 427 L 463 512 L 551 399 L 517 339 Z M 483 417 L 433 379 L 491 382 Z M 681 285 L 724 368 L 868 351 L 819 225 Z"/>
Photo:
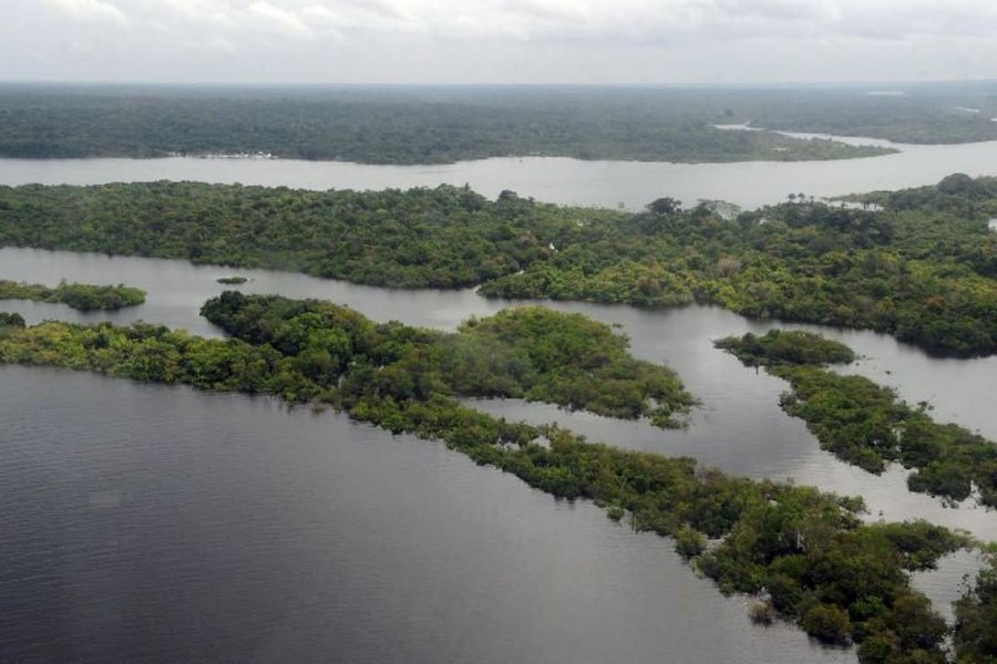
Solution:
<path fill-rule="evenodd" d="M 0 80 L 997 77 L 995 0 L 0 0 Z"/>

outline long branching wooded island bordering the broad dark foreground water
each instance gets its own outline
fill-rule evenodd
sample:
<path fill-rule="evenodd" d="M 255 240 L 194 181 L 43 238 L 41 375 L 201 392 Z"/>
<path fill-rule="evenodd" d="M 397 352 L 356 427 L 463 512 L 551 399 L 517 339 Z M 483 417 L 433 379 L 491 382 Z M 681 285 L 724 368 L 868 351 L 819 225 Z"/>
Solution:
<path fill-rule="evenodd" d="M 822 642 L 857 643 L 863 662 L 946 661 L 949 631 L 911 587 L 909 572 L 973 546 L 966 537 L 924 521 L 863 523 L 857 499 L 733 478 L 687 458 L 588 443 L 555 426 L 508 423 L 455 398 L 543 385 L 536 398 L 634 416 L 660 406 L 661 388 L 688 405 L 674 376 L 631 359 L 625 340 L 605 325 L 526 308 L 467 321 L 448 335 L 376 324 L 325 302 L 236 292 L 202 311 L 233 338 L 142 323 L 13 324 L 0 330 L 0 362 L 330 404 L 391 432 L 439 438 L 556 497 L 594 500 L 610 518 L 629 515 L 636 529 L 674 537 L 676 550 L 723 592 L 758 595 L 765 611 Z M 452 352 L 454 344 L 465 352 Z M 442 355 L 455 359 L 446 365 Z M 614 392 L 634 398 L 568 392 L 600 369 L 616 374 Z M 618 409 L 617 398 L 630 405 Z M 967 595 L 956 640 L 988 652 L 970 620 L 980 605 Z"/>

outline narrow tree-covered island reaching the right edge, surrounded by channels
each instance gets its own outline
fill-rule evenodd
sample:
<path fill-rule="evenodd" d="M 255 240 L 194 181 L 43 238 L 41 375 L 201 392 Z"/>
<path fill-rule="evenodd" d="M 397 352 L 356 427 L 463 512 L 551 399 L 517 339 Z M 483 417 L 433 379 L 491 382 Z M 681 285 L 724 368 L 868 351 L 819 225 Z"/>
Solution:
<path fill-rule="evenodd" d="M 825 363 L 847 363 L 852 351 L 809 332 L 772 330 L 717 341 L 743 363 L 764 366 L 792 391 L 782 408 L 806 422 L 821 447 L 870 473 L 888 461 L 915 468 L 912 491 L 965 500 L 974 486 L 979 502 L 997 508 L 997 445 L 955 424 L 938 424 L 926 404 L 916 407 L 863 376 L 841 375 Z"/>

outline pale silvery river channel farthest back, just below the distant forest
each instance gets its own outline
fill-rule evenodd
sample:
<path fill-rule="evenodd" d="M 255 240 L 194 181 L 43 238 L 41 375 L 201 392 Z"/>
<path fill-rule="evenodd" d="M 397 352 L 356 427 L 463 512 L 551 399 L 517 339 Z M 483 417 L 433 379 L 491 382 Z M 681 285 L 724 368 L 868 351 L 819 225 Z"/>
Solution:
<path fill-rule="evenodd" d="M 810 136 L 803 135 L 801 136 Z M 816 136 L 816 135 L 814 135 Z M 441 166 L 376 166 L 294 159 L 0 159 L 0 183 L 92 185 L 191 179 L 307 189 L 383 189 L 469 184 L 485 196 L 503 189 L 537 200 L 640 208 L 672 196 L 686 204 L 723 199 L 742 207 L 785 200 L 790 191 L 839 196 L 934 184 L 954 172 L 993 175 L 997 142 L 964 145 L 890 145 L 901 153 L 831 162 L 583 162 L 562 157 L 504 157 Z"/>

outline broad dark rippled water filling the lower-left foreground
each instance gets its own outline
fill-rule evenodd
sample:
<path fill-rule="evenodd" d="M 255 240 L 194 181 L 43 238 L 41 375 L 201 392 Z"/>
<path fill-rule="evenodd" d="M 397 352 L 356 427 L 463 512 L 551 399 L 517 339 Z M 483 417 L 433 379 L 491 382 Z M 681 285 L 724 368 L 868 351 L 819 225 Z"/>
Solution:
<path fill-rule="evenodd" d="M 853 662 L 441 444 L 0 367 L 0 661 Z"/>

